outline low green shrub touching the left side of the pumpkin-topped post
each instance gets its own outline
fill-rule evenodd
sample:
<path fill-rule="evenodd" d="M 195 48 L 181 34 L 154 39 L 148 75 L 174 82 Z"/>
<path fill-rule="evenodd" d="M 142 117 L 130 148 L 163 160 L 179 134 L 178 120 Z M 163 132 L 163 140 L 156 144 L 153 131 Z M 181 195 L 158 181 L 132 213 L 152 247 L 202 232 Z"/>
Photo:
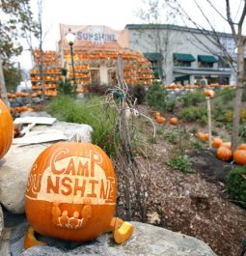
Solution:
<path fill-rule="evenodd" d="M 203 107 L 186 107 L 180 112 L 180 116 L 185 122 L 199 122 L 202 125 L 207 123 L 206 108 Z"/>

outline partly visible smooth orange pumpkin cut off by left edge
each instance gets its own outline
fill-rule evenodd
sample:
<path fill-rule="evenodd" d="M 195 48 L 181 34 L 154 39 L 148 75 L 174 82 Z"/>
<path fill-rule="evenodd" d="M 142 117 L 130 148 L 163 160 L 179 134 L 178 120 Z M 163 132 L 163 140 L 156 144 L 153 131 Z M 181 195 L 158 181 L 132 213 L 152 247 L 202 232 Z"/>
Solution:
<path fill-rule="evenodd" d="M 13 118 L 9 108 L 0 100 L 0 159 L 9 151 L 14 135 Z"/>

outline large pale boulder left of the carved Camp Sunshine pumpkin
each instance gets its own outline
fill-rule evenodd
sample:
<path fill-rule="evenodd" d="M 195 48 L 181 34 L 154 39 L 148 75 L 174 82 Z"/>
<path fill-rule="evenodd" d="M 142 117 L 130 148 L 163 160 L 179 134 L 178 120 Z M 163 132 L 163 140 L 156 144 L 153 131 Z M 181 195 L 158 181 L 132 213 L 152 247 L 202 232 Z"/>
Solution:
<path fill-rule="evenodd" d="M 0 160 L 0 202 L 12 213 L 24 213 L 27 178 L 36 158 L 46 145 L 17 147 L 12 145 Z"/>

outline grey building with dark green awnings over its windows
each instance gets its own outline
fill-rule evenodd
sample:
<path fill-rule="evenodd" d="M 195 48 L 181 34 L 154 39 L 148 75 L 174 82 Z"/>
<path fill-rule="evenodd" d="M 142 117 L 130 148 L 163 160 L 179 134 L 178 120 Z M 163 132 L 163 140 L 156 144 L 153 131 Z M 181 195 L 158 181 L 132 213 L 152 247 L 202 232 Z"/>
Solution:
<path fill-rule="evenodd" d="M 198 29 L 166 24 L 127 24 L 125 29 L 128 30 L 128 47 L 143 52 L 153 69 L 161 67 L 159 73 L 166 84 L 174 81 L 183 85 L 199 84 L 202 76 L 208 83 L 235 84 L 235 75 L 223 61 L 220 48 Z M 232 35 L 218 35 L 227 50 L 234 54 Z"/>

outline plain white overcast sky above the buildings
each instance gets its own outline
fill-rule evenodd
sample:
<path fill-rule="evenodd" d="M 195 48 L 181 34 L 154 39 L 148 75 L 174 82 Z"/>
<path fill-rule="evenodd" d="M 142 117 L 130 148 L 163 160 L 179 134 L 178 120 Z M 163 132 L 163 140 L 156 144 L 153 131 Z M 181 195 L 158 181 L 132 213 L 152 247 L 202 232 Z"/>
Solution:
<path fill-rule="evenodd" d="M 68 25 L 105 25 L 115 30 L 123 30 L 126 24 L 140 24 L 143 21 L 136 15 L 137 9 L 144 6 L 145 0 L 43 0 L 43 31 L 46 33 L 43 48 L 57 49 L 57 43 L 60 39 L 59 24 Z M 148 1 L 148 0 L 147 0 Z M 164 0 L 163 0 L 164 1 Z M 237 11 L 237 2 L 240 0 L 231 0 L 234 13 Z M 205 23 L 205 19 L 196 11 L 193 0 L 179 0 L 185 3 L 187 12 L 191 11 L 191 15 Z M 205 0 L 200 0 L 203 3 Z M 225 8 L 225 0 L 216 0 L 216 6 L 220 11 Z M 37 16 L 37 0 L 31 0 L 32 9 Z M 203 5 L 206 9 L 206 6 Z M 205 10 L 206 11 L 206 10 Z M 207 12 L 205 12 L 207 14 Z M 161 14 L 160 20 L 165 23 L 167 15 Z M 229 27 L 225 23 L 218 22 L 218 14 L 209 13 L 209 19 L 218 31 L 231 33 Z M 182 21 L 179 20 L 179 25 Z M 245 26 L 246 27 L 246 26 Z M 208 28 L 209 29 L 209 28 Z M 38 46 L 38 43 L 35 45 Z M 31 58 L 27 51 L 18 58 L 22 68 L 31 68 Z"/>

